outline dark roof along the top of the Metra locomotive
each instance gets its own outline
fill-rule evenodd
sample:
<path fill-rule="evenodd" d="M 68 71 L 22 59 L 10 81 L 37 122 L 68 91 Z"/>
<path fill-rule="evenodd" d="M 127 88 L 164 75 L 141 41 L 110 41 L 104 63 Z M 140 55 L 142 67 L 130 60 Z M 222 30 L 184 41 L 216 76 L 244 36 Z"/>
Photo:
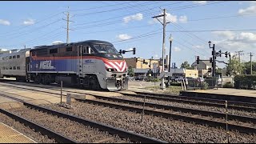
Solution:
<path fill-rule="evenodd" d="M 94 43 L 94 44 L 107 44 L 107 45 L 113 45 L 110 42 L 106 42 L 106 41 L 100 41 L 100 40 L 87 40 L 87 41 L 82 41 L 82 42 L 71 42 L 71 43 L 61 43 L 58 45 L 50 45 L 50 46 L 34 46 L 33 50 L 38 50 L 38 49 L 42 49 L 42 48 L 59 48 L 59 47 L 64 47 L 64 46 L 72 46 L 72 45 L 78 45 L 78 44 L 82 44 L 82 43 Z"/>

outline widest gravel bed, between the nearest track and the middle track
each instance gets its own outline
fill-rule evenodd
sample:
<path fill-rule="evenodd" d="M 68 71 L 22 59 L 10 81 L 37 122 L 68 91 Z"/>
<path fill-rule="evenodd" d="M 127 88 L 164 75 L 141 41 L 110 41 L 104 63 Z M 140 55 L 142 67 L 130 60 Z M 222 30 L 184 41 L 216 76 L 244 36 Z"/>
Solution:
<path fill-rule="evenodd" d="M 71 109 L 61 108 L 58 104 L 44 106 L 167 142 L 226 142 L 226 130 L 180 122 L 170 118 L 144 115 L 141 122 L 141 114 L 82 102 L 72 102 Z M 256 134 L 241 134 L 232 131 L 230 142 L 255 143 Z"/>

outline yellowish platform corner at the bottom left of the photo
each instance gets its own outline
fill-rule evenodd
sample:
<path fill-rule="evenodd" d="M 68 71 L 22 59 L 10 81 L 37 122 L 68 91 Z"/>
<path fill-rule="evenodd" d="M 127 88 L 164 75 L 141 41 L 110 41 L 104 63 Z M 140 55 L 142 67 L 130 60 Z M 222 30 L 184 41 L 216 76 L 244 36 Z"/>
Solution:
<path fill-rule="evenodd" d="M 0 143 L 37 143 L 0 122 Z"/>

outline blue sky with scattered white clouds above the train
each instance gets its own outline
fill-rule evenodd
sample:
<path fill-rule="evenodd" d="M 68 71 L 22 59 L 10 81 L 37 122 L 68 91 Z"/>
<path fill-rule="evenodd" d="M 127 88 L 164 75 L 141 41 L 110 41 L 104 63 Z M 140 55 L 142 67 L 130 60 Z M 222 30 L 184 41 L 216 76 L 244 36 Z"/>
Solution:
<path fill-rule="evenodd" d="M 31 1 L 0 2 L 0 49 L 22 49 L 66 42 L 66 12 L 70 13 L 69 42 L 90 39 L 111 42 L 117 50 L 136 48 L 124 58 L 162 58 L 162 18 L 166 9 L 165 54 L 171 62 L 209 59 L 211 49 L 256 60 L 256 2 L 246 1 Z M 159 22 L 160 21 L 160 22 Z M 227 62 L 228 58 L 217 58 Z M 218 63 L 219 67 L 224 67 Z"/>

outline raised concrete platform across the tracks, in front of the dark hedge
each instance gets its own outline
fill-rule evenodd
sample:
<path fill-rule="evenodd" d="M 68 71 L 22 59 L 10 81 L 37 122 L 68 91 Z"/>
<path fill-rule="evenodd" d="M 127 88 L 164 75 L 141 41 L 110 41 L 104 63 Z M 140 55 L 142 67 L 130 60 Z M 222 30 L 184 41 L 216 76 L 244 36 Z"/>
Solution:
<path fill-rule="evenodd" d="M 218 90 L 186 90 L 181 95 L 198 98 L 215 98 L 227 101 L 256 103 L 256 90 L 218 88 Z"/>

